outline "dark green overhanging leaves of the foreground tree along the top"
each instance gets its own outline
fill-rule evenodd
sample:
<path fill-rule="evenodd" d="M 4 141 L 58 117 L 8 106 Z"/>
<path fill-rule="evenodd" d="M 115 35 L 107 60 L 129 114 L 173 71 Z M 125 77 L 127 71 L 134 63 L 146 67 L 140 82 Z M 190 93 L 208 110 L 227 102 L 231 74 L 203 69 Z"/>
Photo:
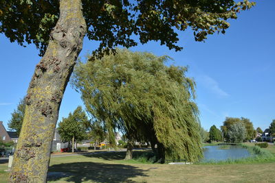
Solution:
<path fill-rule="evenodd" d="M 127 48 L 137 45 L 133 35 L 139 36 L 142 44 L 160 40 L 161 45 L 178 51 L 182 47 L 177 45 L 177 30 L 190 27 L 195 40 L 203 41 L 208 34 L 224 34 L 230 26 L 228 19 L 236 19 L 241 10 L 255 5 L 248 0 L 82 2 L 87 38 L 100 42 L 97 51 L 109 51 L 117 45 Z M 0 0 L 0 33 L 19 45 L 34 43 L 43 55 L 58 20 L 58 7 L 58 0 Z"/>

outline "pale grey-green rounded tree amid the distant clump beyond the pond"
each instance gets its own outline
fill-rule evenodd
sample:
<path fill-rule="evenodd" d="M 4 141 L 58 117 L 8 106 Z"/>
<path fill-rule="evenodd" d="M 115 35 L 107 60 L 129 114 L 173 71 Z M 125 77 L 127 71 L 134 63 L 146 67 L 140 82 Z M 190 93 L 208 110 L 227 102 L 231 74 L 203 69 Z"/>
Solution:
<path fill-rule="evenodd" d="M 228 136 L 232 143 L 241 143 L 246 138 L 246 129 L 243 123 L 234 123 L 228 129 Z"/>

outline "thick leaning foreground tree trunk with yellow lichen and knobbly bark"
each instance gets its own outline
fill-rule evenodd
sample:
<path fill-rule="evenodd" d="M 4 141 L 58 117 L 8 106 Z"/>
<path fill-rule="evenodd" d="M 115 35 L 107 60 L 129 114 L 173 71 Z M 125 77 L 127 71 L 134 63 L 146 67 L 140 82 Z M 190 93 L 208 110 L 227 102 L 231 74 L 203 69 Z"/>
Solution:
<path fill-rule="evenodd" d="M 10 182 L 47 180 L 61 100 L 87 31 L 81 9 L 81 0 L 60 1 L 60 17 L 28 88 Z"/>

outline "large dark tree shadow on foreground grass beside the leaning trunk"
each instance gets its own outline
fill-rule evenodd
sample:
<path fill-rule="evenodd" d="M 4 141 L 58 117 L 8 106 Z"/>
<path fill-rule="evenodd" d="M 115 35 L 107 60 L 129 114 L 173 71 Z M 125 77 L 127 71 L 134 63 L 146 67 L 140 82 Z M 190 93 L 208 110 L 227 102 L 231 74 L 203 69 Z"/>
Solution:
<path fill-rule="evenodd" d="M 50 172 L 67 174 L 67 182 L 135 182 L 130 180 L 137 176 L 147 176 L 147 170 L 139 169 L 126 164 L 107 164 L 101 162 L 72 162 L 54 164 L 49 168 Z M 64 178 L 64 177 L 63 177 Z M 48 181 L 61 180 L 58 176 L 48 176 Z"/>

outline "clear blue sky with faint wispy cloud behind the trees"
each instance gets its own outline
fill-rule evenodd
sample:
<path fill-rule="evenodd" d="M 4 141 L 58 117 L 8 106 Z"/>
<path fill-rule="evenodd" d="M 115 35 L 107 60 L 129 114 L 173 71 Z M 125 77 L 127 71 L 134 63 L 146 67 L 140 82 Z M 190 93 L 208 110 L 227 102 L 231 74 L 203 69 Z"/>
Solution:
<path fill-rule="evenodd" d="M 175 52 L 149 42 L 131 48 L 157 56 L 174 58 L 169 64 L 188 65 L 188 76 L 197 82 L 197 104 L 201 125 L 221 126 L 225 117 L 246 117 L 254 127 L 263 130 L 275 119 L 275 15 L 274 0 L 256 1 L 252 10 L 241 12 L 230 21 L 226 34 L 208 36 L 206 42 L 195 42 L 192 32 L 180 34 L 184 50 Z M 80 56 L 96 48 L 96 42 L 85 38 Z M 20 47 L 0 34 L 0 121 L 8 120 L 19 99 L 25 95 L 34 67 L 39 62 L 34 45 Z M 67 86 L 59 120 L 78 105 L 80 95 Z"/>

